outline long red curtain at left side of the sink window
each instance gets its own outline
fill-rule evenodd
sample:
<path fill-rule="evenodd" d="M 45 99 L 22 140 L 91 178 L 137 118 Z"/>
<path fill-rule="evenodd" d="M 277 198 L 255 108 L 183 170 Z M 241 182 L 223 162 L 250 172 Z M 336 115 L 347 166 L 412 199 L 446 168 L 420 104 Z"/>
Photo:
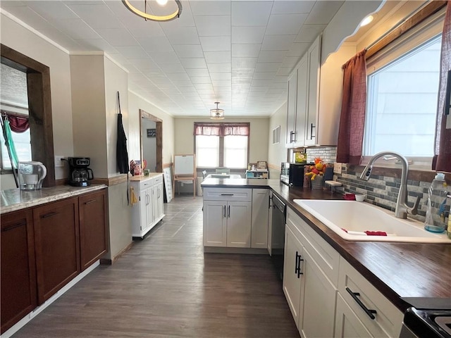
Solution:
<path fill-rule="evenodd" d="M 343 94 L 337 162 L 360 164 L 366 109 L 366 50 L 342 66 Z"/>

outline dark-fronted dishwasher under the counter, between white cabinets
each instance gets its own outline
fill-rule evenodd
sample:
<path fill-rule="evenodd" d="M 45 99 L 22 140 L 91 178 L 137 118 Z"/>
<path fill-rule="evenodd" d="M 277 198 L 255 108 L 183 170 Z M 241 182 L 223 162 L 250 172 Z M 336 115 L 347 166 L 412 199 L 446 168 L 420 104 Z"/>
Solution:
<path fill-rule="evenodd" d="M 283 280 L 283 250 L 285 246 L 285 216 L 286 206 L 273 193 L 273 217 L 271 218 L 271 259 L 278 277 Z"/>

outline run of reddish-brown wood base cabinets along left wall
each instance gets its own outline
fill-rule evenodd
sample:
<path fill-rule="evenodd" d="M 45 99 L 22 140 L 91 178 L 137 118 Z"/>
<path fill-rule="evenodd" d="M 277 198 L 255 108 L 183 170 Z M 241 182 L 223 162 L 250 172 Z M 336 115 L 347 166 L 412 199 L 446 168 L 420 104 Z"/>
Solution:
<path fill-rule="evenodd" d="M 107 250 L 107 190 L 1 215 L 1 331 Z"/>

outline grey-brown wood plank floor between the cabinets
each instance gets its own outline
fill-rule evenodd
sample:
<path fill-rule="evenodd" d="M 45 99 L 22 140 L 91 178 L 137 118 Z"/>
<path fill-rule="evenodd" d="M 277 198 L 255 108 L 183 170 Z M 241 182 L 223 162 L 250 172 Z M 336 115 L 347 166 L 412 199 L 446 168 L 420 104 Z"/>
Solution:
<path fill-rule="evenodd" d="M 164 211 L 13 337 L 299 337 L 269 256 L 204 253 L 202 197 Z"/>

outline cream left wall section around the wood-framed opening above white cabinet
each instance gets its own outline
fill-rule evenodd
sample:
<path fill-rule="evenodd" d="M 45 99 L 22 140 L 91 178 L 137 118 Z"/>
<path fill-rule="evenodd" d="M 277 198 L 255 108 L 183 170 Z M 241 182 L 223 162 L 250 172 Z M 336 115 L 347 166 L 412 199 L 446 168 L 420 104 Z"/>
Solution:
<path fill-rule="evenodd" d="M 174 154 L 174 118 L 145 101 L 141 96 L 128 92 L 128 158 L 140 158 L 140 109 L 160 118 L 163 122 L 163 165 L 172 163 Z"/>

